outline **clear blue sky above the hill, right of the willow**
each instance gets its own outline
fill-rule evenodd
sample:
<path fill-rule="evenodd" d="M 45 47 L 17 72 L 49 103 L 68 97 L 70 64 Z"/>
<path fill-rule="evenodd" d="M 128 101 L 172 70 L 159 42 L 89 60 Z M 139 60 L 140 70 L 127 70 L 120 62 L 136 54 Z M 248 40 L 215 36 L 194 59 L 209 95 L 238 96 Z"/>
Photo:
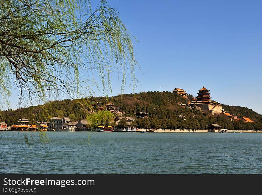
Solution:
<path fill-rule="evenodd" d="M 139 41 L 135 92 L 179 87 L 197 96 L 205 85 L 212 100 L 262 114 L 262 1 L 107 2 Z M 124 93 L 133 93 L 128 84 Z"/>

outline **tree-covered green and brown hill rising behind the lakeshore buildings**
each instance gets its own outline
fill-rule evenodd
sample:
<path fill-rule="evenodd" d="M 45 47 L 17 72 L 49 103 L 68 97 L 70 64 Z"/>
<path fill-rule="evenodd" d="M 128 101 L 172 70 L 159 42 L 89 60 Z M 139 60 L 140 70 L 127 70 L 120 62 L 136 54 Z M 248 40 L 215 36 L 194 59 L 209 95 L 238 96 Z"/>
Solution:
<path fill-rule="evenodd" d="M 142 111 L 148 113 L 144 119 L 136 119 L 134 124 L 141 128 L 162 129 L 206 129 L 206 125 L 216 123 L 226 129 L 261 130 L 262 115 L 251 109 L 240 106 L 222 105 L 222 108 L 238 118 L 249 117 L 255 123 L 245 123 L 230 120 L 224 114 L 212 116 L 195 108 L 182 107 L 192 100 L 172 92 L 141 92 L 135 94 L 122 94 L 111 98 L 91 97 L 78 100 L 53 101 L 44 105 L 19 108 L 17 110 L 5 110 L 1 112 L 1 121 L 8 125 L 17 124 L 19 118 L 26 117 L 29 121 L 49 121 L 52 116 L 69 117 L 71 121 L 85 119 L 92 111 L 96 113 L 99 107 L 105 104 L 114 104 L 116 109 L 123 110 L 127 117 L 135 118 L 135 113 Z M 89 100 L 89 104 L 85 103 Z M 91 105 L 92 103 L 92 105 Z M 91 111 L 91 112 L 90 112 Z M 178 117 L 179 115 L 185 117 Z"/>

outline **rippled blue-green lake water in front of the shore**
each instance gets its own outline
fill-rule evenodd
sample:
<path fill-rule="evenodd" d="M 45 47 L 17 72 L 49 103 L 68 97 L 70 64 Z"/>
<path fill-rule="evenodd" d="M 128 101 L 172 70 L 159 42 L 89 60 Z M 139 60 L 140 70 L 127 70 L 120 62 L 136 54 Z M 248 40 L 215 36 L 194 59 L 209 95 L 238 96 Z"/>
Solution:
<path fill-rule="evenodd" d="M 24 133 L 1 132 L 1 174 L 262 174 L 262 133 Z"/>

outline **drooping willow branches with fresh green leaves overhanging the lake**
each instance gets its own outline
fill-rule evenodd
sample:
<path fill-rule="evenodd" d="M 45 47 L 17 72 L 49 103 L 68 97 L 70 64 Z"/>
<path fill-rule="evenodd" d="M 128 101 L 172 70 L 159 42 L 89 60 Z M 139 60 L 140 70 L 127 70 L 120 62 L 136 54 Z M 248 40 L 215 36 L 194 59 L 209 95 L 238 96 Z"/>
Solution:
<path fill-rule="evenodd" d="M 3 0 L 0 2 L 0 92 L 8 104 L 11 88 L 19 103 L 76 99 L 92 92 L 97 77 L 106 94 L 110 74 L 122 72 L 135 86 L 137 62 L 131 35 L 116 9 L 102 0 Z M 20 104 L 19 104 L 20 105 Z"/>

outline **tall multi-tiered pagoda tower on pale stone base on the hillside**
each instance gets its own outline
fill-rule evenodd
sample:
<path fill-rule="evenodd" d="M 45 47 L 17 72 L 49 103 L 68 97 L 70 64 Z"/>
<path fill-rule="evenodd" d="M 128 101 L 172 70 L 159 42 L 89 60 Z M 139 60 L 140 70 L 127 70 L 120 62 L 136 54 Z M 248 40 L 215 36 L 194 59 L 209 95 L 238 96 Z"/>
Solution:
<path fill-rule="evenodd" d="M 197 101 L 192 101 L 190 106 L 200 107 L 203 111 L 211 112 L 212 115 L 222 113 L 222 105 L 211 100 L 209 91 L 210 90 L 206 89 L 205 86 L 203 86 L 202 89 L 199 89 L 197 93 Z"/>

